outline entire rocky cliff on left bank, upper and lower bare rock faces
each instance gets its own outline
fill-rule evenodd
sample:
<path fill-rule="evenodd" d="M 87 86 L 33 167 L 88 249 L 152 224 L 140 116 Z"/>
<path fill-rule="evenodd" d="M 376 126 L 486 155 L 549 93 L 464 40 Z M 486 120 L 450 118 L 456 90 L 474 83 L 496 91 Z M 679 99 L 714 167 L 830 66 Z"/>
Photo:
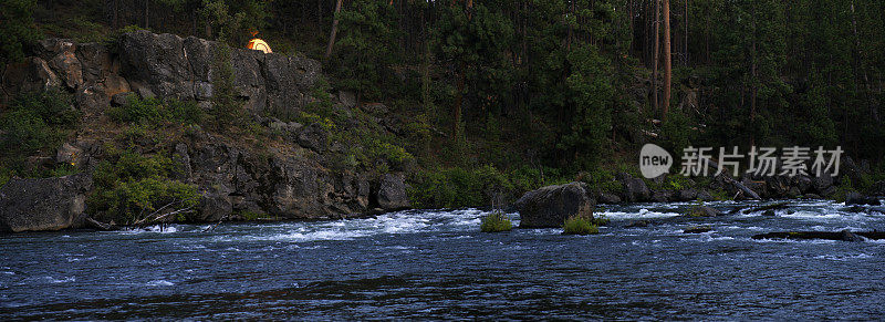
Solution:
<path fill-rule="evenodd" d="M 105 112 L 112 104 L 125 104 L 126 97 L 131 97 L 127 95 L 192 100 L 211 110 L 218 49 L 219 44 L 212 41 L 147 31 L 124 34 L 115 45 L 49 39 L 41 41 L 24 62 L 4 69 L 0 101 L 7 104 L 19 93 L 51 87 L 73 93 L 76 108 L 84 115 L 81 129 L 59 147 L 52 160 L 43 162 L 75 164 L 80 172 L 88 174 L 106 155 L 107 143 L 115 139 Z M 266 129 L 280 133 L 281 142 L 244 142 L 197 126 L 189 128 L 187 135 L 134 147 L 140 153 L 170 152 L 178 163 L 176 179 L 195 185 L 201 196 L 198 220 L 233 218 L 243 212 L 283 219 L 341 218 L 409 206 L 402 167 L 376 172 L 353 165 L 336 166 L 340 163 L 331 156 L 336 143 L 330 143 L 322 126 L 268 116 L 296 115 L 317 98 L 310 93 L 322 73 L 319 62 L 246 49 L 230 50 L 226 62 L 232 66 L 237 98 L 249 117 Z M 342 113 L 363 113 L 355 111 L 358 107 L 347 100 L 330 96 L 334 108 Z M 351 126 L 387 131 L 358 120 Z M 381 122 L 374 116 L 364 120 Z M 256 148 L 259 145 L 262 147 Z M 15 194 L 7 191 L 4 196 Z M 0 199 L 9 198 L 4 196 Z M 0 205 L 14 206 L 7 201 Z M 0 210 L 7 215 L 29 211 Z M 64 215 L 67 218 L 77 214 Z M 50 229 L 76 227 L 75 220 L 69 221 L 69 225 L 53 224 Z"/>

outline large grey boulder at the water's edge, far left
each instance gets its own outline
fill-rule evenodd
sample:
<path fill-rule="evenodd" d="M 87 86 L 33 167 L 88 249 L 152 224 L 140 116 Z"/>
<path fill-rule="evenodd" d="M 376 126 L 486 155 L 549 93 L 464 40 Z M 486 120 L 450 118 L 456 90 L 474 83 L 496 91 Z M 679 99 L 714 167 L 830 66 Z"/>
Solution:
<path fill-rule="evenodd" d="M 82 226 L 92 176 L 12 179 L 0 189 L 0 231 L 39 231 Z"/>

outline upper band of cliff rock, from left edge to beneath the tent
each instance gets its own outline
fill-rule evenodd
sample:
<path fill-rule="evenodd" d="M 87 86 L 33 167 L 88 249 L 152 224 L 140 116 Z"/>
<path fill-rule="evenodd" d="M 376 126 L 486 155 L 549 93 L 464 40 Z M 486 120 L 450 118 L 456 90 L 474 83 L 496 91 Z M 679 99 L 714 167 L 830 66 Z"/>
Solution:
<path fill-rule="evenodd" d="M 212 96 L 219 48 L 194 37 L 136 31 L 122 35 L 119 53 L 112 55 L 102 44 L 46 39 L 38 43 L 34 56 L 6 70 L 0 103 L 14 93 L 56 86 L 73 91 L 87 112 L 97 112 L 126 92 L 207 101 Z M 228 52 L 236 91 L 252 111 L 295 113 L 311 102 L 308 94 L 322 72 L 320 62 L 248 49 Z"/>

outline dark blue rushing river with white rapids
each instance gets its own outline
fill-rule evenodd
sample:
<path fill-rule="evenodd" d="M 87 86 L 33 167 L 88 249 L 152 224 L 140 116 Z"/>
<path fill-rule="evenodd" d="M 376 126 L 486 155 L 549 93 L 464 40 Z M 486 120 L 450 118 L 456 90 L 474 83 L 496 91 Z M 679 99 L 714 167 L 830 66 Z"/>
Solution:
<path fill-rule="evenodd" d="M 479 232 L 480 210 L 0 237 L 8 319 L 882 319 L 885 242 L 753 240 L 885 229 L 876 208 L 777 216 L 603 206 L 596 236 Z M 715 204 L 729 209 L 741 204 Z M 742 205 L 746 206 L 746 205 Z M 517 215 L 511 215 L 517 218 Z M 638 219 L 652 226 L 626 228 Z M 686 235 L 693 225 L 714 231 Z"/>

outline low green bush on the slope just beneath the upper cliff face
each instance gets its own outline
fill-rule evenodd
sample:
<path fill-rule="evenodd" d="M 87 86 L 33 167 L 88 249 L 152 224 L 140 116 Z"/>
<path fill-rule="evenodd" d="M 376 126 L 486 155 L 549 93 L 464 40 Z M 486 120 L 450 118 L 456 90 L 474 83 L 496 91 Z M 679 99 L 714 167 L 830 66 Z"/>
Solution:
<path fill-rule="evenodd" d="M 111 120 L 119 123 L 157 124 L 173 122 L 197 124 L 202 120 L 202 110 L 194 101 L 138 98 L 131 95 L 126 105 L 107 111 Z"/>

